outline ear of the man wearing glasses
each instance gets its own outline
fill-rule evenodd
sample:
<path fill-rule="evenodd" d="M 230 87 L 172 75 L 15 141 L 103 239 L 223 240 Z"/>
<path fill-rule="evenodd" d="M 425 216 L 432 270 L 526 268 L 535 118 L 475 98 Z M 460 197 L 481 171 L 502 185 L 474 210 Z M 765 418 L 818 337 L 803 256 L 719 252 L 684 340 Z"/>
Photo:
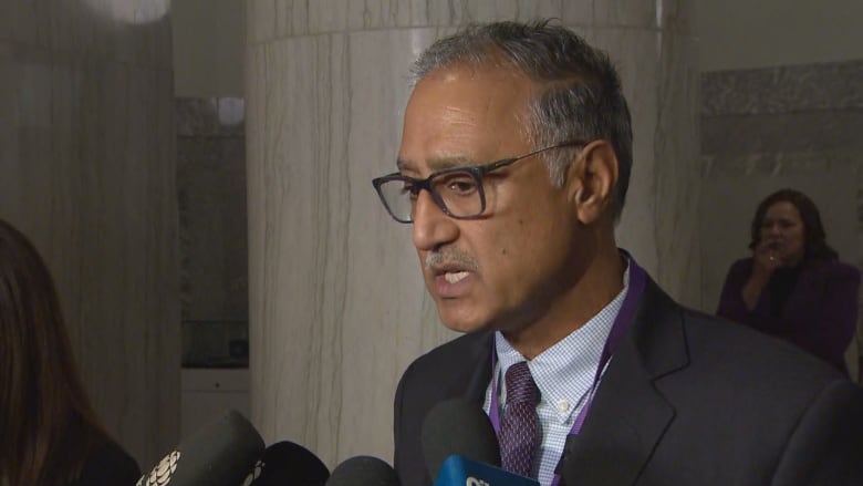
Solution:
<path fill-rule="evenodd" d="M 607 141 L 594 141 L 566 172 L 566 192 L 583 225 L 595 223 L 612 205 L 617 185 L 617 155 Z"/>

